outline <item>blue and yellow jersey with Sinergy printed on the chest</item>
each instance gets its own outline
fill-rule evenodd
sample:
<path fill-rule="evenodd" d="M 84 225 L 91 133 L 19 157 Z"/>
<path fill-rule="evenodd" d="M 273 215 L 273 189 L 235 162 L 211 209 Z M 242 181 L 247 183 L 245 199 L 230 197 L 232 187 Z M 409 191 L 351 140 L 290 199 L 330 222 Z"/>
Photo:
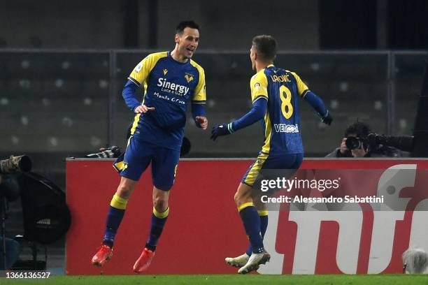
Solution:
<path fill-rule="evenodd" d="M 131 134 L 155 145 L 179 149 L 187 104 L 206 102 L 204 68 L 192 59 L 181 63 L 169 52 L 149 54 L 129 75 L 143 87 L 143 103 L 155 110 L 137 114 Z"/>

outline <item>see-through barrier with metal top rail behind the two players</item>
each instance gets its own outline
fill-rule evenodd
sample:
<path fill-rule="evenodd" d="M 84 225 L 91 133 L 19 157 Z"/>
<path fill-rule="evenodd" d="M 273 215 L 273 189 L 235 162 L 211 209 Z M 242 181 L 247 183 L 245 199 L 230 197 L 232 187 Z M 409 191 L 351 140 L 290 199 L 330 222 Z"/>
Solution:
<path fill-rule="evenodd" d="M 133 118 L 121 89 L 132 68 L 150 50 L 1 50 L 0 152 L 92 152 L 125 145 Z M 334 149 L 345 127 L 367 122 L 373 131 L 411 134 L 426 52 L 279 52 L 276 64 L 295 71 L 320 95 L 334 116 L 326 128 L 301 103 L 306 153 Z M 253 74 L 248 51 L 199 51 L 206 71 L 210 124 L 227 122 L 250 108 Z M 142 93 L 141 93 L 142 95 Z M 192 127 L 190 156 L 252 156 L 262 131 L 252 126 L 234 138 L 209 140 Z"/>

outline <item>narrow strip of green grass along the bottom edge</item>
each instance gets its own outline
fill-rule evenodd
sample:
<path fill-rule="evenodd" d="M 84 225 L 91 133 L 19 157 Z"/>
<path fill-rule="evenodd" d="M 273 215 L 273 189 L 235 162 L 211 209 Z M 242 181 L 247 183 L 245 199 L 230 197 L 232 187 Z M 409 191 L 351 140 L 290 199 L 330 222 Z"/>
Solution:
<path fill-rule="evenodd" d="M 0 279 L 0 284 L 428 284 L 428 275 L 104 275 Z"/>

